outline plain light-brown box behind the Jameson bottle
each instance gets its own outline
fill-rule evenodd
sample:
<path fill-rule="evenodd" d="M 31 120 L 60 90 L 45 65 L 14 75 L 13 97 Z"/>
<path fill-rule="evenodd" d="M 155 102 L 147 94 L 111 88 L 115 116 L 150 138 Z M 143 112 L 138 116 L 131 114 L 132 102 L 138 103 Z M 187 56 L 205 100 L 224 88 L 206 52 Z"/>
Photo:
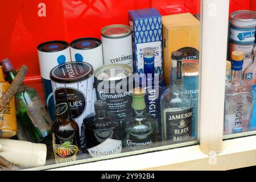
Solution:
<path fill-rule="evenodd" d="M 183 47 L 200 50 L 200 21 L 191 13 L 162 16 L 163 75 L 170 83 L 171 53 Z"/>

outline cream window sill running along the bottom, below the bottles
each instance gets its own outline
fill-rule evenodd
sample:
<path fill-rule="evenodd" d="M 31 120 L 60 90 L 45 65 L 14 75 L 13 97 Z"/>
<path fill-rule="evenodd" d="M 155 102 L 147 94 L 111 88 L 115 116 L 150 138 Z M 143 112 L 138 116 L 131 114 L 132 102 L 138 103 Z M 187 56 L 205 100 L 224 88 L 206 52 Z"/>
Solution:
<path fill-rule="evenodd" d="M 225 140 L 222 152 L 211 155 L 195 145 L 50 170 L 228 170 L 256 166 L 256 136 Z"/>

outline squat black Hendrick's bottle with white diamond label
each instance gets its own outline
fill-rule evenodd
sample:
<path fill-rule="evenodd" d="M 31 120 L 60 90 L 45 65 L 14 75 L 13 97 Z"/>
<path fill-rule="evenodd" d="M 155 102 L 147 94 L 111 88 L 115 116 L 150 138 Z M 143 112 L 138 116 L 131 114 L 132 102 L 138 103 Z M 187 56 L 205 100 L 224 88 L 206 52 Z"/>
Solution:
<path fill-rule="evenodd" d="M 92 157 L 118 154 L 122 151 L 119 137 L 120 120 L 106 111 L 106 101 L 94 102 L 96 115 L 85 124 L 86 147 Z"/>

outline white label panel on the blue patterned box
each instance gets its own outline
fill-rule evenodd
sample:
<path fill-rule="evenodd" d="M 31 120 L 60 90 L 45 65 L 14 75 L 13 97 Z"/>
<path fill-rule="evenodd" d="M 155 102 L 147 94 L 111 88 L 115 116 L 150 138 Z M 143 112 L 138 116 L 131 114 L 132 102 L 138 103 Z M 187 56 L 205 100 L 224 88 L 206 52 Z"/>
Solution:
<path fill-rule="evenodd" d="M 148 42 L 148 43 L 141 43 L 137 44 L 137 69 L 143 69 L 144 68 L 144 60 L 143 60 L 143 48 L 146 47 L 154 47 L 155 48 L 155 67 L 161 67 L 162 66 L 162 52 L 161 52 L 161 42 Z"/>

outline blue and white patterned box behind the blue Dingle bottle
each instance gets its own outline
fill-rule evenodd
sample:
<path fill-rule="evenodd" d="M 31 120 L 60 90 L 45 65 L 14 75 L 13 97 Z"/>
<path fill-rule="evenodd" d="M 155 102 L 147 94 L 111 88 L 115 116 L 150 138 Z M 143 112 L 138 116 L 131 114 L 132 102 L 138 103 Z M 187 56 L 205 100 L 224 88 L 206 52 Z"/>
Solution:
<path fill-rule="evenodd" d="M 130 10 L 129 25 L 133 29 L 134 70 L 143 73 L 143 52 L 145 47 L 155 48 L 155 73 L 163 74 L 162 16 L 151 9 Z"/>

